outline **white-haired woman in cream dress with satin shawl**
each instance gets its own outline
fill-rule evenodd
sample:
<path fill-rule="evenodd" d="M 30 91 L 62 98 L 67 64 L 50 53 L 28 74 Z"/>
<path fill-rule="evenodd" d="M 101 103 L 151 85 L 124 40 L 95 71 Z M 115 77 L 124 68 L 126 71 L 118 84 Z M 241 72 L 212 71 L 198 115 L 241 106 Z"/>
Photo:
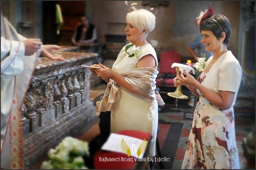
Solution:
<path fill-rule="evenodd" d="M 119 52 L 113 68 L 102 64 L 92 65 L 102 69 L 92 69 L 108 83 L 102 98 L 97 102 L 100 113 L 100 126 L 108 120 L 111 111 L 111 132 L 130 129 L 152 134 L 150 155 L 155 155 L 155 142 L 158 126 L 158 104 L 155 97 L 157 77 L 157 55 L 146 41 L 154 29 L 155 16 L 145 9 L 127 14 L 125 32 L 130 42 Z M 133 46 L 133 45 L 134 46 Z M 103 120 L 104 119 L 104 120 Z M 107 133 L 106 127 L 101 133 Z"/>

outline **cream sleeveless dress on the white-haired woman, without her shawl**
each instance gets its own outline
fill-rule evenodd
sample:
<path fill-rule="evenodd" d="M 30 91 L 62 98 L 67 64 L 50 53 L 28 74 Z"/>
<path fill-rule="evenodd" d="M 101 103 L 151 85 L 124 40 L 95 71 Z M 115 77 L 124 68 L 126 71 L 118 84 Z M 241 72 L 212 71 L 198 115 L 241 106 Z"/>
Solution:
<path fill-rule="evenodd" d="M 141 52 L 138 57 L 128 57 L 128 54 L 125 52 L 126 46 L 121 49 L 113 64 L 112 69 L 115 72 L 121 74 L 136 69 L 139 60 L 147 54 L 152 54 L 158 65 L 157 54 L 151 44 L 141 46 Z M 150 133 L 152 135 L 150 155 L 153 157 L 155 155 L 158 127 L 157 100 L 133 94 L 122 87 L 120 89 L 120 102 L 114 110 L 111 110 L 110 131 L 115 133 L 120 130 L 129 129 Z"/>

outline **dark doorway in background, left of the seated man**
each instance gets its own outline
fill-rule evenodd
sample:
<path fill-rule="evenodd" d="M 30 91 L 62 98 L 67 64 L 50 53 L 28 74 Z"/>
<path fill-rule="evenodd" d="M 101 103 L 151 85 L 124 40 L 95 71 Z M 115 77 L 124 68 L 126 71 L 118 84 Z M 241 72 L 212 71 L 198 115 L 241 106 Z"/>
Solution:
<path fill-rule="evenodd" d="M 56 4 L 60 5 L 63 24 L 57 35 Z M 86 1 L 42 1 L 43 5 L 43 43 L 72 45 L 71 37 L 85 15 Z"/>

